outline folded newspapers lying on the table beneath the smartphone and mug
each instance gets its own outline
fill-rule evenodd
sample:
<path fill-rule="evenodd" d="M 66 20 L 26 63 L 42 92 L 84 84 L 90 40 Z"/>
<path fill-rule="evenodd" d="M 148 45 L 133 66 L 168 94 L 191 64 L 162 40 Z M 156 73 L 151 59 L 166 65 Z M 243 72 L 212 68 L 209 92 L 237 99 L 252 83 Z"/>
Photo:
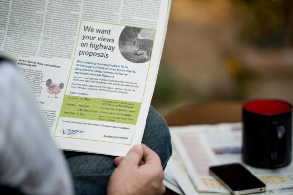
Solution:
<path fill-rule="evenodd" d="M 293 194 L 293 164 L 280 169 L 259 169 L 241 161 L 241 124 L 193 125 L 171 127 L 174 154 L 171 160 L 176 166 L 171 169 L 181 182 L 192 181 L 198 192 L 226 194 L 226 188 L 209 175 L 209 166 L 239 162 L 267 186 L 265 194 Z M 178 152 L 178 156 L 176 154 Z M 184 165 L 184 166 L 183 166 Z M 178 168 L 179 167 L 179 168 Z M 177 180 L 180 185 L 180 181 Z M 190 190 L 180 185 L 186 192 Z M 201 193 L 200 193 L 201 194 Z"/>

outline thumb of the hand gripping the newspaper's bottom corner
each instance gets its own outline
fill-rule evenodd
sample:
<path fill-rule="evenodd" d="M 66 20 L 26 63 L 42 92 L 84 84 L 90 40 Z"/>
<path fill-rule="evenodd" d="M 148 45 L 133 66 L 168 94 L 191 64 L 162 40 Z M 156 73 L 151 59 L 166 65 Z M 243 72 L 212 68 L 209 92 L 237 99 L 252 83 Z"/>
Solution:
<path fill-rule="evenodd" d="M 125 158 L 122 160 L 121 163 L 134 164 L 134 165 L 138 166 L 143 158 L 143 155 L 144 155 L 144 150 L 143 150 L 142 146 L 140 144 L 134 145 L 129 150 L 129 152 L 127 153 L 127 155 L 125 156 Z"/>

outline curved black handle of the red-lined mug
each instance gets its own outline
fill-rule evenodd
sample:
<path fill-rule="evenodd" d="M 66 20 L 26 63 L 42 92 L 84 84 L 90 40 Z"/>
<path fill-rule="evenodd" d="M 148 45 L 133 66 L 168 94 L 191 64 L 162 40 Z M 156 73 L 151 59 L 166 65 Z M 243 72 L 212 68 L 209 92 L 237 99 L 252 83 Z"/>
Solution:
<path fill-rule="evenodd" d="M 272 145 L 271 145 L 271 160 L 275 167 L 284 166 L 286 163 L 286 153 L 287 153 L 287 140 L 285 138 L 285 127 L 280 125 L 279 122 L 273 122 L 274 134 L 271 137 Z"/>

